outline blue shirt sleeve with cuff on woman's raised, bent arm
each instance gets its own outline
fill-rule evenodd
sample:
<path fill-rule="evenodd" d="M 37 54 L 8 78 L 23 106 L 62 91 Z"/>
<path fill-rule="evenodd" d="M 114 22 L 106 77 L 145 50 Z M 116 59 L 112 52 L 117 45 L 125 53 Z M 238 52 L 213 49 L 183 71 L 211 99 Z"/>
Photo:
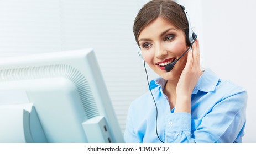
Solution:
<path fill-rule="evenodd" d="M 247 92 L 233 89 L 201 119 L 191 119 L 190 113 L 173 113 L 166 121 L 165 142 L 241 141 L 246 102 Z"/>

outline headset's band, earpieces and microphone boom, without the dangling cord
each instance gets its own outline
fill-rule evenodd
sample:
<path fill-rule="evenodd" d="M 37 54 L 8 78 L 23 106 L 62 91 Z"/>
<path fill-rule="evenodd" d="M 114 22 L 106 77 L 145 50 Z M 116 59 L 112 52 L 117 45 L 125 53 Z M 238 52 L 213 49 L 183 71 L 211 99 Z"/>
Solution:
<path fill-rule="evenodd" d="M 185 15 L 186 15 L 186 18 L 187 18 L 187 23 L 189 24 L 189 32 L 188 32 L 188 35 L 186 36 L 186 39 L 187 41 L 190 42 L 190 46 L 189 48 L 187 48 L 187 50 L 179 57 L 177 58 L 174 62 L 172 63 L 169 63 L 168 65 L 165 66 L 165 70 L 167 72 L 170 72 L 174 65 L 177 63 L 177 61 L 179 61 L 179 59 L 181 57 L 183 57 L 187 51 L 189 51 L 190 48 L 192 48 L 192 45 L 194 44 L 196 38 L 197 38 L 197 35 L 195 34 L 195 32 L 193 31 L 192 27 L 191 27 L 191 24 L 190 24 L 190 18 L 189 18 L 189 14 L 187 13 L 186 9 L 184 6 L 180 5 L 180 7 L 182 8 L 182 10 L 184 11 Z M 139 54 L 139 57 L 143 59 L 143 56 L 142 56 L 142 50 L 140 48 L 140 46 L 138 45 L 138 54 Z M 143 59 L 144 60 L 144 59 Z"/>

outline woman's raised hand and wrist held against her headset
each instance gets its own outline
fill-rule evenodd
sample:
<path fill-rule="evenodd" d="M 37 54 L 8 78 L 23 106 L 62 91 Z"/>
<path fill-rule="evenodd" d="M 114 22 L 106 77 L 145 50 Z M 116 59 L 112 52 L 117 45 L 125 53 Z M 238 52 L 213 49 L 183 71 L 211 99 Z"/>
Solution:
<path fill-rule="evenodd" d="M 201 75 L 199 42 L 196 40 L 192 51 L 187 53 L 187 63 L 176 87 L 175 112 L 191 113 L 192 91 Z"/>

